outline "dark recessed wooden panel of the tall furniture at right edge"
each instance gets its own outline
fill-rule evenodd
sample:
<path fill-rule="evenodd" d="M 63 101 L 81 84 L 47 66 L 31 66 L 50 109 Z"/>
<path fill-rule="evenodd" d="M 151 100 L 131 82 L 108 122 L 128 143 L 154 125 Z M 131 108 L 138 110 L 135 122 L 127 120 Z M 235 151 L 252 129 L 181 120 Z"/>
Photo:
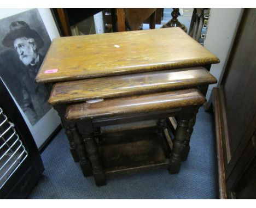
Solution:
<path fill-rule="evenodd" d="M 224 86 L 230 154 L 238 148 L 255 114 L 256 106 L 256 10 L 249 9 L 238 31 Z M 252 132 L 253 133 L 253 132 Z"/>

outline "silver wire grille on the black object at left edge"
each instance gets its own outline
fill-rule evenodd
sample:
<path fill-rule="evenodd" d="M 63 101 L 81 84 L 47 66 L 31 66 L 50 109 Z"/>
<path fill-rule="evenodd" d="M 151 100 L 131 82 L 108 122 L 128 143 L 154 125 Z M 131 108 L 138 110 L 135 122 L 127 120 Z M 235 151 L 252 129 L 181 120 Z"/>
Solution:
<path fill-rule="evenodd" d="M 0 107 L 0 189 L 20 167 L 27 157 L 13 123 Z"/>

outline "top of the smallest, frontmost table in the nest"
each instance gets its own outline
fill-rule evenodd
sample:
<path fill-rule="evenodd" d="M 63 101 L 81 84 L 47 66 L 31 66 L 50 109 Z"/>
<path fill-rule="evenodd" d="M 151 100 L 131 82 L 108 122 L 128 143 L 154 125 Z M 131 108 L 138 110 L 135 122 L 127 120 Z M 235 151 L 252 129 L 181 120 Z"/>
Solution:
<path fill-rule="evenodd" d="M 143 113 L 181 108 L 205 103 L 197 89 L 184 89 L 131 97 L 107 99 L 96 103 L 79 103 L 67 107 L 66 119 L 113 117 L 127 113 Z"/>

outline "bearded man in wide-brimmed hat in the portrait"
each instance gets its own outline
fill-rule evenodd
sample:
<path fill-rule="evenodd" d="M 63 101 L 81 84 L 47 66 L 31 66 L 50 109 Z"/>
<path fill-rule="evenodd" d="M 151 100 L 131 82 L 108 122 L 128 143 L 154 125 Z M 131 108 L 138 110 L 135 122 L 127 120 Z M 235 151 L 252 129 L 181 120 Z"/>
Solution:
<path fill-rule="evenodd" d="M 38 32 L 31 29 L 24 21 L 12 22 L 9 28 L 10 31 L 5 35 L 2 44 L 9 48 L 15 48 L 24 64 L 24 68 L 20 69 L 24 70 L 24 77 L 21 79 L 23 96 L 21 108 L 31 124 L 34 125 L 50 109 L 44 85 L 34 83 L 34 78 L 44 59 L 39 54 L 39 49 L 43 47 L 44 41 Z"/>

